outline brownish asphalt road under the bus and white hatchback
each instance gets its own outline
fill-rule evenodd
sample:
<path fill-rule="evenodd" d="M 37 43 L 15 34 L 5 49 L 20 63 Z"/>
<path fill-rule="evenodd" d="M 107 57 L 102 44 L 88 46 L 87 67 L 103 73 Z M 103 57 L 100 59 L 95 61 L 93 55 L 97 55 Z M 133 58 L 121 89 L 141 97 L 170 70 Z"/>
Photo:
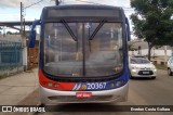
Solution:
<path fill-rule="evenodd" d="M 105 105 L 173 105 L 173 76 L 167 71 L 159 69 L 156 79 L 135 78 L 130 80 L 129 98 L 127 102 Z M 35 100 L 34 100 L 35 99 Z M 38 90 L 28 95 L 18 104 L 32 105 L 39 103 Z M 91 108 L 104 107 L 101 104 L 61 104 L 56 107 L 82 108 L 84 112 L 54 112 L 34 113 L 35 115 L 173 115 L 173 112 L 88 112 Z M 103 104 L 102 104 L 103 105 Z M 29 113 L 30 115 L 31 113 Z"/>

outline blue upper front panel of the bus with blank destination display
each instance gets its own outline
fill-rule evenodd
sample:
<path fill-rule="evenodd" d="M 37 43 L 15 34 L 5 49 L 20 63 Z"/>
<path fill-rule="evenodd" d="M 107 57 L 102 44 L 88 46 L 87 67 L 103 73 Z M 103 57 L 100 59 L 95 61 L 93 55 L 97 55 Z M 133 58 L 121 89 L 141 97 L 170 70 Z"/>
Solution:
<path fill-rule="evenodd" d="M 114 21 L 122 21 L 123 10 L 120 7 L 110 5 L 89 5 L 89 4 L 70 4 L 70 5 L 55 5 L 45 7 L 42 11 L 43 21 L 53 20 L 75 20 L 77 17 L 83 18 L 106 18 Z"/>

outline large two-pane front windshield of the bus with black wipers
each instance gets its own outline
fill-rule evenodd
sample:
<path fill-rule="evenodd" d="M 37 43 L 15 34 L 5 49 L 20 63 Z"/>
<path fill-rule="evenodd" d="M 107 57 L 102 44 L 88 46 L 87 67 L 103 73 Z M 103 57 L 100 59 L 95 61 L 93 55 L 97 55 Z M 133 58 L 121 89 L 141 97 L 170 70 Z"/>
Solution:
<path fill-rule="evenodd" d="M 121 23 L 45 23 L 44 72 L 102 77 L 123 69 Z"/>

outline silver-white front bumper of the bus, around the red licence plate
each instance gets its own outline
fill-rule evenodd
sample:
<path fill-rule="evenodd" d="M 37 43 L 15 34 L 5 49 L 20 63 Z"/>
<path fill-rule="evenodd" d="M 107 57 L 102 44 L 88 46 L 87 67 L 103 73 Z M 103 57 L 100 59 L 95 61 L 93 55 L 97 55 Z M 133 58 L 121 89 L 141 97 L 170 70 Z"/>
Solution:
<path fill-rule="evenodd" d="M 77 92 L 58 91 L 40 86 L 40 99 L 42 104 L 54 105 L 58 103 L 108 103 L 127 101 L 129 84 L 111 90 L 90 91 L 91 98 L 76 98 Z M 83 91 L 84 92 L 84 91 Z"/>

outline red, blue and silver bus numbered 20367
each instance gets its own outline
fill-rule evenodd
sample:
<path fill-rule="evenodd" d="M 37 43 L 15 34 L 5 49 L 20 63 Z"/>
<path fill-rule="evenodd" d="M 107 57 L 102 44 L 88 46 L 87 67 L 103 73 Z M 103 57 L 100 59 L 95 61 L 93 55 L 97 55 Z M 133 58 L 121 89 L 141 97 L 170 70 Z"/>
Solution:
<path fill-rule="evenodd" d="M 125 101 L 129 23 L 121 8 L 46 7 L 40 25 L 39 84 L 43 104 Z"/>

